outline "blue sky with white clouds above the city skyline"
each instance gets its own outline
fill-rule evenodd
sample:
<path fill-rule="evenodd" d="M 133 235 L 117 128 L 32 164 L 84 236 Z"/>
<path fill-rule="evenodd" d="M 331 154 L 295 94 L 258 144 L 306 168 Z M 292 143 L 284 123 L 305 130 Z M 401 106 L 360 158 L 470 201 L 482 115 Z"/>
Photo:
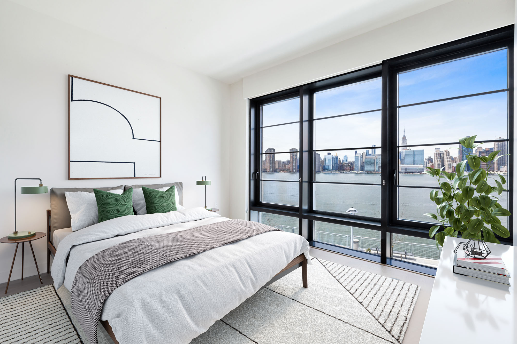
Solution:
<path fill-rule="evenodd" d="M 400 73 L 399 104 L 506 87 L 507 51 L 498 50 Z M 314 118 L 379 108 L 381 79 L 333 88 L 314 95 Z M 298 98 L 263 106 L 264 126 L 296 121 L 298 117 Z M 470 135 L 478 135 L 480 140 L 506 138 L 507 92 L 402 107 L 399 110 L 399 142 L 403 127 L 406 129 L 408 145 L 454 142 L 459 137 Z M 316 120 L 314 135 L 315 149 L 380 146 L 381 114 L 372 112 Z M 265 128 L 263 139 L 264 149 L 273 147 L 283 151 L 285 148 L 298 147 L 298 125 Z M 493 144 L 483 145 L 483 148 L 485 146 L 493 147 Z M 434 146 L 424 147 L 424 150 L 425 157 L 432 156 Z M 457 150 L 452 153 L 454 156 L 457 154 Z"/>

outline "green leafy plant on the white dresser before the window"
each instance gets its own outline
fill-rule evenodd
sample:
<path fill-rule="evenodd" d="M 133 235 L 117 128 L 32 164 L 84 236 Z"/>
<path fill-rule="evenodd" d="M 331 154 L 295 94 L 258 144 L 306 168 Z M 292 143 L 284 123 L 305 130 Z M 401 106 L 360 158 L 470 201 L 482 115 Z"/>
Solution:
<path fill-rule="evenodd" d="M 475 144 L 475 140 L 476 136 L 463 137 L 460 143 L 474 150 L 481 145 Z M 448 173 L 443 170 L 444 167 L 427 167 L 428 170 L 424 171 L 434 177 L 439 185 L 439 189 L 429 194 L 436 203 L 436 214 L 424 214 L 441 224 L 429 230 L 429 237 L 435 238 L 436 247 L 444 244 L 445 237 L 458 237 L 459 234 L 464 239 L 482 239 L 494 243 L 499 243 L 494 234 L 501 238 L 510 236 L 510 231 L 499 220 L 499 216 L 509 216 L 510 212 L 498 203 L 499 198 L 496 196 L 506 190 L 503 189 L 505 177 L 498 174 L 499 181 L 488 174 L 497 159 L 508 155 L 497 156 L 499 152 L 493 151 L 485 157 L 469 154 L 467 160 L 458 163 L 456 173 Z M 486 169 L 481 168 L 482 162 Z M 465 174 L 467 164 L 471 171 Z M 489 178 L 495 181 L 495 186 L 489 185 Z"/>

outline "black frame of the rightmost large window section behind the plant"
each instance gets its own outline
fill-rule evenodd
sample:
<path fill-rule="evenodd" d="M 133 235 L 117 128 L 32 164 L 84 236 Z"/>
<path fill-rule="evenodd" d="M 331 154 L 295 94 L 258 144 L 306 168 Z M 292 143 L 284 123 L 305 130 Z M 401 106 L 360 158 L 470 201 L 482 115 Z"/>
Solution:
<path fill-rule="evenodd" d="M 508 49 L 508 138 L 501 140 L 480 140 L 476 142 L 508 142 L 508 152 L 513 152 L 513 25 L 509 25 L 503 28 L 495 29 L 490 32 L 482 33 L 479 35 L 474 35 L 471 37 L 467 37 L 464 39 L 460 39 L 457 41 L 441 44 L 432 48 L 428 48 L 422 51 L 418 51 L 415 53 L 406 54 L 400 57 L 392 58 L 387 61 L 383 61 L 383 67 L 385 67 L 385 74 L 387 87 L 388 87 L 388 96 L 387 99 L 387 117 L 389 120 L 388 127 L 389 132 L 391 133 L 391 139 L 386 143 L 388 146 L 389 155 L 387 157 L 387 167 L 389 169 L 389 173 L 387 179 L 391 187 L 388 190 L 388 202 L 389 206 L 389 220 L 388 227 L 393 233 L 400 233 L 406 235 L 409 234 L 406 229 L 410 228 L 413 231 L 422 232 L 423 234 L 429 233 L 429 224 L 419 221 L 411 221 L 411 220 L 401 220 L 398 218 L 398 152 L 399 152 L 399 144 L 398 144 L 398 106 L 397 106 L 397 74 L 407 70 L 413 70 L 416 68 L 426 67 L 429 65 L 439 64 L 441 62 L 447 62 L 455 59 L 459 59 L 462 57 L 468 57 L 484 52 L 489 52 L 501 48 Z M 384 76 L 383 75 L 383 76 Z M 495 91 L 491 92 L 482 92 L 475 93 L 475 95 L 483 95 L 495 93 Z M 459 97 L 451 97 L 445 99 L 460 99 L 470 97 L 472 95 L 464 95 Z M 437 102 L 441 100 L 433 100 L 432 102 Z M 428 103 L 428 102 L 424 102 Z M 410 106 L 413 104 L 404 104 L 403 106 Z M 434 143 L 432 146 L 442 146 L 442 145 L 455 145 L 458 142 L 447 142 L 447 143 Z M 407 145 L 410 146 L 425 146 L 425 145 Z M 513 209 L 513 154 L 510 153 L 508 157 L 508 181 L 505 186 L 510 185 L 510 189 L 508 190 L 508 207 L 509 209 Z M 412 187 L 412 186 L 402 186 L 402 187 Z M 433 187 L 427 186 L 419 186 L 420 189 L 434 189 Z M 510 229 L 510 237 L 509 238 L 498 238 L 501 243 L 513 244 L 513 215 L 510 216 L 508 221 L 508 227 Z M 429 238 L 429 236 L 427 237 Z"/>

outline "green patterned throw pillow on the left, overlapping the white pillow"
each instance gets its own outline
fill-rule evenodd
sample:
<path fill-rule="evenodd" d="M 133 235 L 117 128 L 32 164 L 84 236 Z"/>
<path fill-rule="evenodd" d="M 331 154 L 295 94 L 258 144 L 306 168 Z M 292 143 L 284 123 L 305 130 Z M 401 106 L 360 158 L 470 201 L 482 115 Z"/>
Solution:
<path fill-rule="evenodd" d="M 111 220 L 115 217 L 134 215 L 132 187 L 121 195 L 97 189 L 94 189 L 94 193 L 99 209 L 99 222 Z"/>

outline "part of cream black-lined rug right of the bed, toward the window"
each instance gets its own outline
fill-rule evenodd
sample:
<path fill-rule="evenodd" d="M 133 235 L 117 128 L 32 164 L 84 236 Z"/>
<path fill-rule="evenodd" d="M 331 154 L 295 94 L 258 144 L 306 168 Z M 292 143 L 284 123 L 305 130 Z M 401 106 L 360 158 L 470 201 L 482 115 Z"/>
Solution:
<path fill-rule="evenodd" d="M 191 344 L 401 344 L 419 286 L 321 259 L 251 296 Z"/>

